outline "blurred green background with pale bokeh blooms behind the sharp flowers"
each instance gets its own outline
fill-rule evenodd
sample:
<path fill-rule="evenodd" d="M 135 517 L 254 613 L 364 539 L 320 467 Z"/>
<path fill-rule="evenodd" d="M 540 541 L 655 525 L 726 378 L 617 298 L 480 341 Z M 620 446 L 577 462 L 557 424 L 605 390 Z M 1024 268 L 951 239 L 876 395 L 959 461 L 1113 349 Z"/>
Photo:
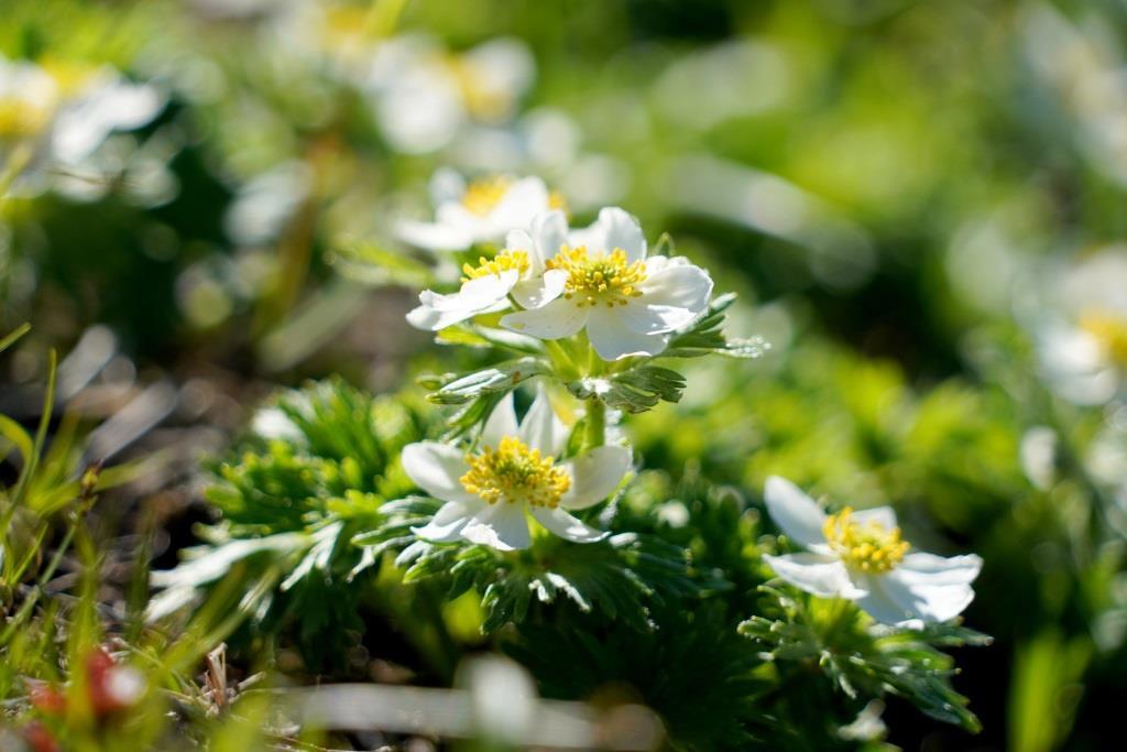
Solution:
<path fill-rule="evenodd" d="M 740 293 L 733 334 L 773 345 L 691 370 L 638 424 L 647 463 L 893 503 L 922 548 L 986 559 L 966 621 L 996 642 L 956 681 L 985 731 L 891 705 L 889 741 L 1110 749 L 1125 52 L 1119 0 L 6 0 L 0 331 L 35 328 L 0 408 L 26 415 L 48 348 L 73 352 L 73 410 L 133 410 L 91 452 L 178 452 L 133 502 L 161 499 L 172 561 L 202 516 L 188 468 L 257 396 L 387 390 L 433 359 L 402 320 L 429 259 L 393 228 L 434 170 L 541 175 L 577 222 L 614 204 L 667 231 Z M 94 147 L 68 154 L 61 115 L 36 131 L 26 64 L 105 121 Z M 90 105 L 108 71 L 148 108 Z M 1092 301 L 1111 324 L 1085 326 Z M 1106 396 L 1063 388 L 1059 330 L 1099 350 Z"/>

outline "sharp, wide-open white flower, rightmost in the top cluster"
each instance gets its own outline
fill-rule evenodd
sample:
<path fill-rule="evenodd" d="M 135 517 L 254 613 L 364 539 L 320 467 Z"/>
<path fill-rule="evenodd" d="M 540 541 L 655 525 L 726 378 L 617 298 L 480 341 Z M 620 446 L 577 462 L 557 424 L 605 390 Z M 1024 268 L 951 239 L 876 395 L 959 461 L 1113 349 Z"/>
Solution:
<path fill-rule="evenodd" d="M 533 254 L 544 254 L 536 306 L 509 313 L 502 325 L 514 331 L 559 339 L 586 328 L 604 361 L 657 355 L 671 333 L 692 322 L 708 307 L 712 280 L 683 257 L 646 255 L 638 221 L 609 207 L 552 248 L 551 238 L 532 238 Z M 549 249 L 554 253 L 548 254 Z"/>

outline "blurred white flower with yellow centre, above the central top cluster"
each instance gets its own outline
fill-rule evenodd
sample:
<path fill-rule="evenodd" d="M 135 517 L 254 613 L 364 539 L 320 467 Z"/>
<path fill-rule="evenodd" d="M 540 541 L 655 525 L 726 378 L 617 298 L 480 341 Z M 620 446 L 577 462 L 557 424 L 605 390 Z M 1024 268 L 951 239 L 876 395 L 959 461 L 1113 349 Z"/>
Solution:
<path fill-rule="evenodd" d="M 403 36 L 375 48 L 361 86 L 391 148 L 425 153 L 447 145 L 465 123 L 512 117 L 534 76 L 517 39 L 451 54 L 426 37 Z"/>

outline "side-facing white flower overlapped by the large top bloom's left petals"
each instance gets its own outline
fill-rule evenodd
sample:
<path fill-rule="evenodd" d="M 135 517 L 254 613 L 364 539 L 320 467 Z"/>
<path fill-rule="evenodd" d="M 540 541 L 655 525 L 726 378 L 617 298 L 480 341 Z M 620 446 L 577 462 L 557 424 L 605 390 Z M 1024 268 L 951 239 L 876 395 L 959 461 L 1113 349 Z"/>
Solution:
<path fill-rule="evenodd" d="M 562 212 L 539 215 L 532 221 L 532 235 L 513 230 L 505 248 L 491 259 L 482 256 L 476 265 L 463 265 L 462 287 L 458 292 L 419 293 L 419 307 L 407 315 L 408 322 L 437 331 L 479 313 L 505 310 L 511 307 L 509 295 L 524 308 L 543 304 L 544 290 L 559 294 L 565 275 L 544 268 L 543 248 L 539 244 L 559 248 L 566 236 L 567 219 Z"/>

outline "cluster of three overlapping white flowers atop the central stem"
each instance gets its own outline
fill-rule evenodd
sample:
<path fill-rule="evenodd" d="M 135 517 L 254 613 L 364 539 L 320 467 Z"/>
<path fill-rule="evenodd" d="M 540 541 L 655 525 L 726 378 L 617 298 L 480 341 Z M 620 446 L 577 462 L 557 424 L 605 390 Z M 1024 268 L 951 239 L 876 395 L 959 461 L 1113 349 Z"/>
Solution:
<path fill-rule="evenodd" d="M 492 178 L 441 193 L 437 220 L 402 225 L 429 248 L 462 249 L 504 237 L 491 258 L 465 264 L 461 289 L 424 291 L 408 320 L 440 330 L 481 313 L 507 311 L 502 326 L 540 339 L 585 333 L 604 361 L 658 355 L 673 331 L 708 307 L 712 278 L 683 257 L 649 256 L 638 221 L 603 209 L 570 229 L 539 178 Z"/>

